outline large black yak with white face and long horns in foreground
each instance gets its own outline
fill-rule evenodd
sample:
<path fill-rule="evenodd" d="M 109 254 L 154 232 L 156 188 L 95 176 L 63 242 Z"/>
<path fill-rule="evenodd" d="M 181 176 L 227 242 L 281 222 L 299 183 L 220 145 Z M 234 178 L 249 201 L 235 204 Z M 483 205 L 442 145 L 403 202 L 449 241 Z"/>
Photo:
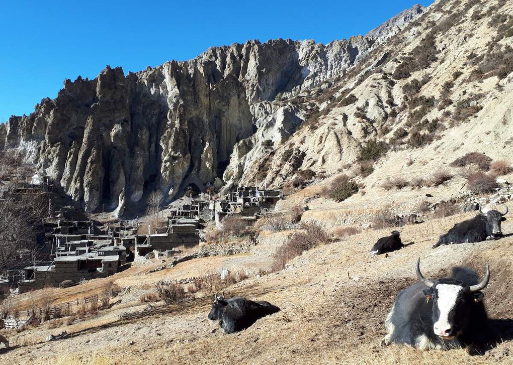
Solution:
<path fill-rule="evenodd" d="M 449 277 L 431 281 L 419 266 L 420 259 L 420 281 L 399 293 L 385 320 L 386 345 L 404 343 L 427 350 L 485 343 L 488 319 L 481 290 L 490 280 L 488 265 L 481 282 L 467 267 L 453 267 Z"/>

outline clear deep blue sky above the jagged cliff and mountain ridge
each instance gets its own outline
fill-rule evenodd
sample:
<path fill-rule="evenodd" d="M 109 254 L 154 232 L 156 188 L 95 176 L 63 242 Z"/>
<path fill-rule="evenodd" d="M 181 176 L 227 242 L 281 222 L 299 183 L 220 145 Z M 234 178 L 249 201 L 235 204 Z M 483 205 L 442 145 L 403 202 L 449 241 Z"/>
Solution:
<path fill-rule="evenodd" d="M 333 39 L 365 34 L 428 1 L 24 1 L 0 3 L 0 121 L 30 114 L 66 78 L 94 78 L 186 60 L 247 39 Z"/>

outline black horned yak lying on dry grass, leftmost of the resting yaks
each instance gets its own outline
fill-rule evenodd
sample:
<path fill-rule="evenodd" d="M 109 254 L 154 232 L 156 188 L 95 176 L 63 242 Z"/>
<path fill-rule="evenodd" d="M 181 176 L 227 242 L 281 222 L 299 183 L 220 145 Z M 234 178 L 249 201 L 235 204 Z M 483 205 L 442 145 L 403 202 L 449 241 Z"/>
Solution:
<path fill-rule="evenodd" d="M 258 319 L 279 312 L 280 308 L 263 300 L 242 297 L 226 299 L 215 294 L 208 319 L 218 320 L 225 333 L 233 333 L 251 327 Z"/>

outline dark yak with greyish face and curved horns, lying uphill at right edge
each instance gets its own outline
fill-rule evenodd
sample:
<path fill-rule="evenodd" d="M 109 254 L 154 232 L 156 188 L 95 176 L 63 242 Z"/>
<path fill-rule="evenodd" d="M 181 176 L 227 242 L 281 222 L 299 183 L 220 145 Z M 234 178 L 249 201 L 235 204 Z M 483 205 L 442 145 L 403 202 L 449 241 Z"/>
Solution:
<path fill-rule="evenodd" d="M 501 222 L 506 220 L 504 216 L 507 212 L 507 206 L 504 213 L 498 210 L 489 210 L 485 214 L 480 208 L 476 217 L 455 224 L 446 234 L 441 235 L 438 243 L 433 248 L 453 243 L 499 239 L 502 237 Z"/>

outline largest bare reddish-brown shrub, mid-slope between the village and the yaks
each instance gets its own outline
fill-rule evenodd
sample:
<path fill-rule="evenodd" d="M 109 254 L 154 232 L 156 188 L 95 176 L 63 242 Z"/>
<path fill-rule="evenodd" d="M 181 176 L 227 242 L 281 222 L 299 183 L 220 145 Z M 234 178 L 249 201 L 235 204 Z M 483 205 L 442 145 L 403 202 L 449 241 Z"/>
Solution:
<path fill-rule="evenodd" d="M 329 242 L 328 233 L 320 225 L 303 223 L 302 228 L 302 231 L 294 233 L 285 244 L 276 250 L 273 255 L 271 271 L 282 270 L 288 261 L 299 256 L 303 251 Z"/>

